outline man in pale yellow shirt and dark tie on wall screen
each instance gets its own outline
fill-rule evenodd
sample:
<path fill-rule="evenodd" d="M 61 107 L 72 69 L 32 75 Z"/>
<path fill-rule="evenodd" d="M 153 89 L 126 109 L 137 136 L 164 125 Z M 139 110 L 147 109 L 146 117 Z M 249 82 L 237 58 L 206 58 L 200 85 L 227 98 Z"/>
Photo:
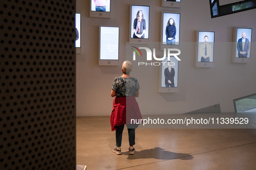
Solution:
<path fill-rule="evenodd" d="M 212 47 L 211 47 L 211 44 L 208 42 L 208 36 L 205 35 L 204 42 L 201 43 L 199 46 L 198 57 L 201 57 L 201 61 L 199 62 L 210 62 L 211 54 L 212 54 Z"/>

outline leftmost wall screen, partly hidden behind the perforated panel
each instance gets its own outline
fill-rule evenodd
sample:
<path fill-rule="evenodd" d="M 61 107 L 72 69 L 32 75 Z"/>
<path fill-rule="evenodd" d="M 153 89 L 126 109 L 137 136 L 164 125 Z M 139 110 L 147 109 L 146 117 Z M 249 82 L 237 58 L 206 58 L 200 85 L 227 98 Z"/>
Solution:
<path fill-rule="evenodd" d="M 75 31 L 76 31 L 76 38 L 75 38 L 75 48 L 76 53 L 81 53 L 81 13 L 75 14 Z"/>

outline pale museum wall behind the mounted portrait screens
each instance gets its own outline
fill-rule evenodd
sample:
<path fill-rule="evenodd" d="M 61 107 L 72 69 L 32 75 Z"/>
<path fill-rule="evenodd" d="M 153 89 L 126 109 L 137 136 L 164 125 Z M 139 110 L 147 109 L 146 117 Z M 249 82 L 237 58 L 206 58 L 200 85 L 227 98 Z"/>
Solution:
<path fill-rule="evenodd" d="M 163 12 L 181 13 L 179 62 L 179 92 L 159 93 L 159 69 L 145 70 L 136 76 L 140 85 L 137 98 L 143 115 L 182 114 L 214 104 L 222 113 L 234 112 L 233 99 L 256 93 L 256 43 L 252 43 L 251 63 L 231 63 L 233 27 L 253 28 L 256 40 L 256 9 L 211 19 L 209 1 L 183 0 L 181 8 L 161 7 L 160 0 L 112 0 L 111 18 L 89 17 L 89 0 L 77 0 L 81 13 L 81 54 L 76 59 L 77 116 L 110 116 L 113 98 L 110 96 L 113 79 L 121 76 L 129 41 L 130 4 L 149 5 L 149 41 L 160 41 L 160 16 Z M 99 66 L 99 25 L 119 26 L 119 66 Z M 214 67 L 194 67 L 195 31 L 215 31 Z M 147 80 L 147 81 L 145 81 Z"/>

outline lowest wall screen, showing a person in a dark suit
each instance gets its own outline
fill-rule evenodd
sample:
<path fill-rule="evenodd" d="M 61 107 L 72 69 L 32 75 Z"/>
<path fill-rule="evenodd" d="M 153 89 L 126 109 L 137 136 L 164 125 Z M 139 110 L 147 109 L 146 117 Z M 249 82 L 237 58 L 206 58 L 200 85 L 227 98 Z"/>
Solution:
<path fill-rule="evenodd" d="M 159 93 L 178 92 L 178 60 L 165 57 L 159 66 Z"/>

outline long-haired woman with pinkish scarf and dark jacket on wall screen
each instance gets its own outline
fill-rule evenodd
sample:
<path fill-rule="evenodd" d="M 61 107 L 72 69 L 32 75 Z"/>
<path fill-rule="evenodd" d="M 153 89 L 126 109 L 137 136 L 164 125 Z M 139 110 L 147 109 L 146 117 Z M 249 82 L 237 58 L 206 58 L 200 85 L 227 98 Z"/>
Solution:
<path fill-rule="evenodd" d="M 144 19 L 142 10 L 139 10 L 136 19 L 133 22 L 133 38 L 144 38 L 146 31 L 146 20 Z"/>

